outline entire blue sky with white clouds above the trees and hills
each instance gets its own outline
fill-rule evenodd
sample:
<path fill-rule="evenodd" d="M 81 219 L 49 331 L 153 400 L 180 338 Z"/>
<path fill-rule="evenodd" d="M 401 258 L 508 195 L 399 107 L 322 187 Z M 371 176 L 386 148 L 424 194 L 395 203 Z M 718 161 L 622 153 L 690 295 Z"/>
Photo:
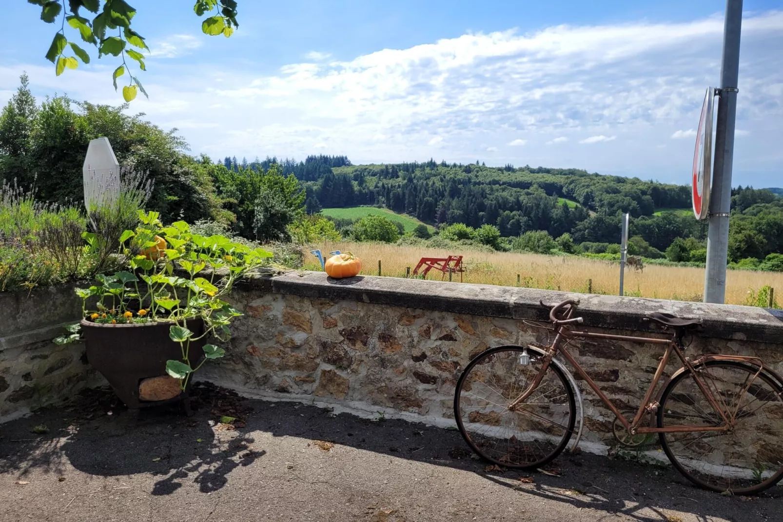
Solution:
<path fill-rule="evenodd" d="M 39 101 L 122 103 L 117 58 L 90 49 L 56 77 L 44 55 L 59 24 L 5 2 L 0 104 L 22 71 Z M 720 80 L 713 0 L 239 0 L 231 38 L 201 33 L 194 0 L 128 2 L 150 46 L 134 72 L 150 98 L 128 113 L 214 160 L 478 160 L 690 183 Z M 783 0 L 745 2 L 738 88 L 732 184 L 783 187 Z"/>

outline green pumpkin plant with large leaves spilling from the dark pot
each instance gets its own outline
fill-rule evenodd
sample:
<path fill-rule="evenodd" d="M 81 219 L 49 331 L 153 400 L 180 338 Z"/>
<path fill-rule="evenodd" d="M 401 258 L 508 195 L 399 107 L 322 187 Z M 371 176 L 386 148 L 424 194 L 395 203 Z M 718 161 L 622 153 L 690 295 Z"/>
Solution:
<path fill-rule="evenodd" d="M 163 227 L 158 212 L 139 211 L 140 224 L 120 237 L 121 255 L 128 270 L 99 274 L 98 284 L 76 288 L 86 321 L 99 324 L 130 324 L 151 321 L 171 323 L 169 337 L 182 349 L 180 360 L 166 362 L 166 372 L 186 389 L 190 375 L 207 359 L 226 352 L 214 344 L 204 345 L 204 360 L 195 368 L 189 358 L 193 341 L 210 337 L 229 340 L 229 324 L 240 314 L 222 300 L 234 283 L 265 263 L 272 253 L 249 248 L 223 236 L 192 234 L 187 223 L 178 221 Z M 87 310 L 96 299 L 96 310 Z M 204 331 L 195 335 L 188 321 L 201 319 Z M 78 324 L 55 343 L 80 339 Z"/>

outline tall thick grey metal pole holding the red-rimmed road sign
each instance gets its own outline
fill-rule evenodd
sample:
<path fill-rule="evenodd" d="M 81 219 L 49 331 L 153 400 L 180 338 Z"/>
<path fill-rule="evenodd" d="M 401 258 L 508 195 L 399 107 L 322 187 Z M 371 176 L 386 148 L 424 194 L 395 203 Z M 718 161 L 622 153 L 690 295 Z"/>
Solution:
<path fill-rule="evenodd" d="M 713 188 L 709 198 L 707 265 L 704 302 L 723 303 L 726 298 L 726 260 L 731 212 L 731 166 L 734 161 L 734 119 L 737 114 L 739 40 L 742 30 L 742 0 L 726 1 L 723 21 L 723 63 L 720 66 L 720 101 L 715 131 Z"/>

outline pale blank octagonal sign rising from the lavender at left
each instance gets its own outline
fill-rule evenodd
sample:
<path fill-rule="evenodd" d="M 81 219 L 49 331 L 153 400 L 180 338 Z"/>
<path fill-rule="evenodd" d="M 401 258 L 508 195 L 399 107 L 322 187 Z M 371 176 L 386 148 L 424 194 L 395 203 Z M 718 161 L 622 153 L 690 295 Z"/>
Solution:
<path fill-rule="evenodd" d="M 120 164 L 108 138 L 90 141 L 81 172 L 85 183 L 85 208 L 88 211 L 117 200 L 120 194 Z"/>

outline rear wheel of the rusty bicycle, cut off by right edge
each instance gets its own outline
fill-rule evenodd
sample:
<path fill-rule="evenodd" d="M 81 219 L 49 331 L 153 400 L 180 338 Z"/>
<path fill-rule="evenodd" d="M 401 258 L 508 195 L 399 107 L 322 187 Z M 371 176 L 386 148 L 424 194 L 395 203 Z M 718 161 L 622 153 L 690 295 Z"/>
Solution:
<path fill-rule="evenodd" d="M 669 460 L 694 484 L 751 495 L 783 478 L 781 383 L 764 372 L 756 376 L 757 369 L 738 361 L 708 361 L 697 367 L 723 414 L 734 419 L 730 430 L 659 433 Z M 724 424 L 691 372 L 677 375 L 663 391 L 659 428 Z"/>

